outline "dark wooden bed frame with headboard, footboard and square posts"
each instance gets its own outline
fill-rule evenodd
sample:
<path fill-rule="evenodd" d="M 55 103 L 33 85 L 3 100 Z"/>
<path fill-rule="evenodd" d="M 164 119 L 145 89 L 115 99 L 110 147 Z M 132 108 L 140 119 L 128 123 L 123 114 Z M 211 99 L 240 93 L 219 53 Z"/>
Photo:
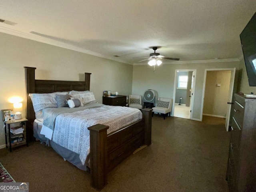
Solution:
<path fill-rule="evenodd" d="M 71 90 L 90 90 L 90 75 L 84 81 L 35 80 L 33 67 L 25 68 L 27 136 L 34 141 L 33 122 L 35 112 L 30 93 L 52 93 Z M 96 124 L 90 130 L 90 185 L 101 190 L 107 184 L 107 173 L 142 145 L 151 144 L 152 109 L 142 109 L 142 120 L 107 135 L 108 126 Z"/>

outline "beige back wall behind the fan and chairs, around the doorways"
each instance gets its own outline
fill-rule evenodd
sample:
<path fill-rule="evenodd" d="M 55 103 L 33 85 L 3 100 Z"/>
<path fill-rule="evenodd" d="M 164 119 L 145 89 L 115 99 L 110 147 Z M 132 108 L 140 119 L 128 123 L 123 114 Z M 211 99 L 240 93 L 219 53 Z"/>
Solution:
<path fill-rule="evenodd" d="M 212 68 L 239 68 L 240 62 L 215 62 L 199 64 L 163 64 L 156 67 L 137 65 L 133 68 L 132 94 L 143 95 L 146 89 L 158 92 L 159 97 L 173 98 L 174 75 L 177 69 L 196 69 L 196 87 L 194 92 L 193 119 L 200 120 L 202 91 L 205 69 Z"/>

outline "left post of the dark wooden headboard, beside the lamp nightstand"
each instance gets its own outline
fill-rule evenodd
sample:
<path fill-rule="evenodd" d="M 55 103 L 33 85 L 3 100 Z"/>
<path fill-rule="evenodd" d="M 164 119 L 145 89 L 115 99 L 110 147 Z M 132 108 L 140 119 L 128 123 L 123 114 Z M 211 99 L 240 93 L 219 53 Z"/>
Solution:
<path fill-rule="evenodd" d="M 28 141 L 33 141 L 33 122 L 35 119 L 35 113 L 34 113 L 34 108 L 32 105 L 32 101 L 30 96 L 28 96 L 29 93 L 34 93 L 35 92 L 35 67 L 24 67 L 25 68 L 25 86 L 26 86 L 26 101 L 27 101 L 27 106 L 26 106 L 26 118 L 28 119 L 27 123 L 27 136 Z"/>

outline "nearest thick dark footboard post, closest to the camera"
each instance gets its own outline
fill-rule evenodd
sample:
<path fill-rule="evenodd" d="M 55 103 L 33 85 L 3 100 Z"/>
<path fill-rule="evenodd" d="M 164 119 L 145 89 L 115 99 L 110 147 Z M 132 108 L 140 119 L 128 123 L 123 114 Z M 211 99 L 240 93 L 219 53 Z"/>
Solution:
<path fill-rule="evenodd" d="M 101 190 L 107 184 L 107 129 L 109 126 L 96 124 L 90 130 L 90 185 Z"/>

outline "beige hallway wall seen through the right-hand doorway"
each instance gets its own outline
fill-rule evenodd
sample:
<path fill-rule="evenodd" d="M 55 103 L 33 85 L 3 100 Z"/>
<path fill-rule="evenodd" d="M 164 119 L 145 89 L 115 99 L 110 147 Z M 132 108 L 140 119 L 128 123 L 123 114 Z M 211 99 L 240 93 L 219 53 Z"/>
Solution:
<path fill-rule="evenodd" d="M 230 77 L 231 71 L 207 71 L 203 114 L 226 117 Z"/>

